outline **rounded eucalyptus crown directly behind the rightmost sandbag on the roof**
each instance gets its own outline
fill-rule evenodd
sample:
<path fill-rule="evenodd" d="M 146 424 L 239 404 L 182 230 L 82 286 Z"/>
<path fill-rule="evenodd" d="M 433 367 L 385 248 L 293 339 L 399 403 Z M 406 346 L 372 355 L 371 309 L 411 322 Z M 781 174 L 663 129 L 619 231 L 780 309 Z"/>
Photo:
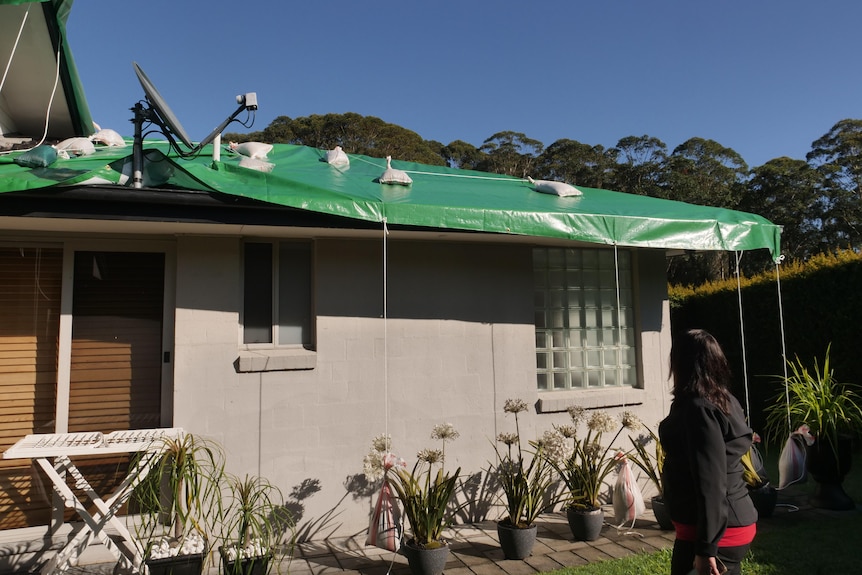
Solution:
<path fill-rule="evenodd" d="M 539 156 L 538 174 L 574 186 L 604 188 L 613 180 L 616 152 L 575 140 L 557 140 Z"/>

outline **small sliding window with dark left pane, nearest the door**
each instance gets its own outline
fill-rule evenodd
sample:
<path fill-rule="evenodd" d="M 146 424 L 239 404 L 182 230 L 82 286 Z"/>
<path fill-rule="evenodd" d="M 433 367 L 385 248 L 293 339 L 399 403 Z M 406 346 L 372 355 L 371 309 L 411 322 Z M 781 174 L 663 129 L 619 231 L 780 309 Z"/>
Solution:
<path fill-rule="evenodd" d="M 311 244 L 247 242 L 243 343 L 312 345 Z"/>

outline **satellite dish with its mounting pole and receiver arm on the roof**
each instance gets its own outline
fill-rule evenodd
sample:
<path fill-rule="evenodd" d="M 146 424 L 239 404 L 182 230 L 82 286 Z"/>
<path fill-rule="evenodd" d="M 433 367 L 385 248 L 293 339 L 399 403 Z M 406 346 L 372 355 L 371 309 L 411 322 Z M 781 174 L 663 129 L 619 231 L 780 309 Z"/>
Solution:
<path fill-rule="evenodd" d="M 132 108 L 132 111 L 135 113 L 135 117 L 132 118 L 132 123 L 135 126 L 134 146 L 132 148 L 132 180 L 133 185 L 136 188 L 143 187 L 144 141 L 142 132 L 144 122 L 149 121 L 157 125 L 177 154 L 181 157 L 187 158 L 197 154 L 204 146 L 211 143 L 224 131 L 227 125 L 233 122 L 242 112 L 253 112 L 257 110 L 257 94 L 255 92 L 240 94 L 236 97 L 236 102 L 239 104 L 236 111 L 228 116 L 227 119 L 219 124 L 215 130 L 195 146 L 185 129 L 183 129 L 182 124 L 180 124 L 180 121 L 174 115 L 173 111 L 171 111 L 168 103 L 164 98 L 162 98 L 162 95 L 159 94 L 155 84 L 150 81 L 149 77 L 144 73 L 141 67 L 138 66 L 137 62 L 132 62 L 132 65 L 135 68 L 135 74 L 138 76 L 138 81 L 144 89 L 144 96 L 147 104 L 145 106 L 143 103 L 138 102 Z M 179 139 L 179 141 L 182 142 L 188 150 L 180 148 L 180 145 L 177 143 L 175 138 Z"/>

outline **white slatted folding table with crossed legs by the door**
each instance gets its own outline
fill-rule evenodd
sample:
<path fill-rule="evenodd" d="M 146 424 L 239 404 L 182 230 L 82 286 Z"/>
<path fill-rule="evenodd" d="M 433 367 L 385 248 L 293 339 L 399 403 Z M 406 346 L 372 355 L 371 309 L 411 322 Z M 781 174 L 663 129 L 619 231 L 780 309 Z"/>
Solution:
<path fill-rule="evenodd" d="M 98 539 L 114 554 L 120 567 L 139 572 L 141 562 L 140 547 L 132 538 L 125 524 L 116 517 L 117 511 L 132 495 L 135 486 L 146 478 L 157 461 L 158 450 L 150 449 L 157 441 L 176 437 L 182 433 L 180 428 L 135 429 L 111 433 L 45 433 L 28 435 L 3 453 L 3 459 L 32 459 L 51 479 L 54 491 L 66 507 L 74 509 L 84 525 L 68 543 L 42 567 L 42 575 L 56 573 L 65 569 L 89 545 L 93 537 Z M 102 497 L 84 478 L 70 457 L 76 455 L 111 455 L 120 453 L 146 452 L 136 460 L 135 465 L 122 483 L 107 498 Z M 50 459 L 53 458 L 53 462 Z M 75 487 L 96 507 L 94 513 L 87 511 L 85 498 L 79 499 L 69 488 L 64 477 L 68 474 L 75 481 Z M 130 548 L 123 549 L 105 533 L 108 525 L 114 527 Z"/>

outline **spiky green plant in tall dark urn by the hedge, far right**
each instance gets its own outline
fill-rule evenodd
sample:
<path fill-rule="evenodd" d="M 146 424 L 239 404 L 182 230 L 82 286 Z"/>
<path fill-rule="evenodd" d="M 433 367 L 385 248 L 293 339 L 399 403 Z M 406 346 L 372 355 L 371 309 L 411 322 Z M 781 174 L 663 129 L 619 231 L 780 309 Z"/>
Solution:
<path fill-rule="evenodd" d="M 829 363 L 831 345 L 823 365 L 814 360 L 809 370 L 797 357 L 789 362 L 791 374 L 784 379 L 785 391 L 767 407 L 767 428 L 776 437 L 785 427 L 805 424 L 814 436 L 806 464 L 817 482 L 811 504 L 826 509 L 855 508 L 842 483 L 850 471 L 854 434 L 862 429 L 862 399 L 857 386 L 836 381 Z"/>

